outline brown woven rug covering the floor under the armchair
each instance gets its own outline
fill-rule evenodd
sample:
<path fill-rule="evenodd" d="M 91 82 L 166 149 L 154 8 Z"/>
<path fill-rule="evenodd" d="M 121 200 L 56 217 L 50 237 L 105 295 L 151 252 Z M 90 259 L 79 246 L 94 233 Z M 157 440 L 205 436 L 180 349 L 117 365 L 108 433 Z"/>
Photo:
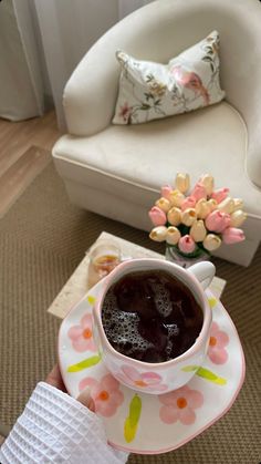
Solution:
<path fill-rule="evenodd" d="M 146 233 L 72 206 L 52 163 L 0 221 L 0 422 L 13 424 L 55 362 L 60 321 L 46 309 L 103 230 L 163 252 Z M 197 439 L 164 455 L 132 455 L 132 464 L 261 462 L 261 249 L 247 269 L 215 264 L 244 349 L 244 385 L 232 409 Z"/>

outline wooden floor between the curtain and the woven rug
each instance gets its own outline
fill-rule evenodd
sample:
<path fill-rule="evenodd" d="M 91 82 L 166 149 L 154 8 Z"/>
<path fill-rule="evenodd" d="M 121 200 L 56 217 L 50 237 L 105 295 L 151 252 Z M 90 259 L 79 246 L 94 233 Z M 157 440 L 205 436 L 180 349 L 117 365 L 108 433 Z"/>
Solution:
<path fill-rule="evenodd" d="M 46 166 L 60 136 L 54 111 L 17 123 L 0 118 L 0 217 Z"/>

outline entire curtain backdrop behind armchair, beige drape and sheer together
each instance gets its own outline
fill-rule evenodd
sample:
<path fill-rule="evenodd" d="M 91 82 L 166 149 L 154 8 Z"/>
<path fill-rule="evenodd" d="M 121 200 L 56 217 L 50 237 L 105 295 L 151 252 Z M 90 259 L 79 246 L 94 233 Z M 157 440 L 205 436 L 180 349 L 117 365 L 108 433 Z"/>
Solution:
<path fill-rule="evenodd" d="M 0 116 L 42 114 L 52 97 L 66 131 L 62 95 L 74 68 L 106 30 L 150 1 L 0 1 Z"/>

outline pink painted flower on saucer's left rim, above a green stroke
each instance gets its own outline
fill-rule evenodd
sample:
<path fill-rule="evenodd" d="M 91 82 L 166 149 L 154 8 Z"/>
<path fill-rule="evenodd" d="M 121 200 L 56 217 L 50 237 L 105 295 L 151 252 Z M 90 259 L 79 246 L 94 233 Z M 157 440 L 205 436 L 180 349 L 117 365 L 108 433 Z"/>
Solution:
<path fill-rule="evenodd" d="M 75 351 L 96 351 L 93 340 L 93 321 L 91 315 L 83 316 L 81 323 L 79 326 L 71 327 L 67 331 L 67 336 L 72 340 Z"/>

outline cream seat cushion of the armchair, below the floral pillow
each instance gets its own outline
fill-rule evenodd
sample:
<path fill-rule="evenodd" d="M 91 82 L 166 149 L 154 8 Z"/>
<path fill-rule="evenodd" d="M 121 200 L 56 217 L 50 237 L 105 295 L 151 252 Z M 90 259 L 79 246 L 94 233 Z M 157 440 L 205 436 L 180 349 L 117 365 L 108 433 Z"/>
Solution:
<path fill-rule="evenodd" d="M 91 137 L 64 135 L 53 156 L 63 177 L 148 207 L 177 172 L 192 173 L 191 183 L 210 173 L 258 219 L 261 193 L 246 173 L 247 143 L 242 117 L 223 101 L 147 124 L 111 125 Z"/>

